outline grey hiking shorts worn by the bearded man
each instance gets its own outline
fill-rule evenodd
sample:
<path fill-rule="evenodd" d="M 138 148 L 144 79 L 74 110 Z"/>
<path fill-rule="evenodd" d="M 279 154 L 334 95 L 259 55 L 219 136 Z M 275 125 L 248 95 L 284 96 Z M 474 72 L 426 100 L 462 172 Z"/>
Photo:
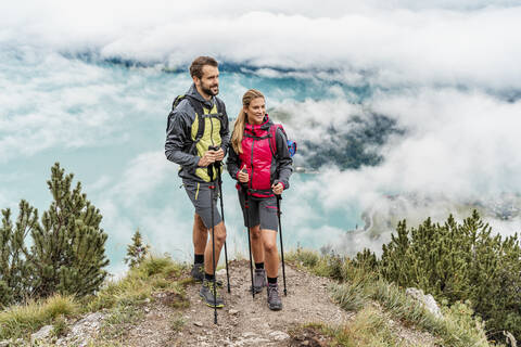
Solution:
<path fill-rule="evenodd" d="M 220 218 L 219 210 L 217 209 L 217 200 L 219 197 L 219 184 L 217 182 L 213 183 L 200 183 L 195 181 L 182 180 L 182 185 L 185 185 L 185 191 L 187 192 L 188 197 L 192 202 L 193 207 L 195 207 L 195 214 L 201 216 L 204 226 L 207 229 L 211 229 L 214 226 L 217 226 L 223 220 Z M 214 189 L 214 223 L 212 224 L 212 208 L 209 203 L 211 185 L 215 185 Z"/>

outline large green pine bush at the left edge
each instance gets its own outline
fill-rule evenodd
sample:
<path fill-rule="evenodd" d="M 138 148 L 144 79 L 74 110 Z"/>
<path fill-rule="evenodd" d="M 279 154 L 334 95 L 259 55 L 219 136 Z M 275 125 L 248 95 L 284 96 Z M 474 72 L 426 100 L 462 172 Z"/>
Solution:
<path fill-rule="evenodd" d="M 100 228 L 102 216 L 81 193 L 81 183 L 72 188 L 73 174 L 56 163 L 47 182 L 53 201 L 41 220 L 26 201 L 20 203 L 16 224 L 11 210 L 2 210 L 0 229 L 0 306 L 54 293 L 84 296 L 98 291 L 107 272 Z M 26 246 L 30 236 L 31 246 Z"/>

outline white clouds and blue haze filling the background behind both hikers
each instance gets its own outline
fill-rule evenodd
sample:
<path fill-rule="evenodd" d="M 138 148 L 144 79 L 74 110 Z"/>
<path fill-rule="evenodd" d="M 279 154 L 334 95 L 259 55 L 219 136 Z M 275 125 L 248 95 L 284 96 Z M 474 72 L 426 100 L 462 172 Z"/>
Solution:
<path fill-rule="evenodd" d="M 43 209 L 60 160 L 119 248 L 139 227 L 168 245 L 161 252 L 190 254 L 189 235 L 170 240 L 171 229 L 191 229 L 186 196 L 160 194 L 180 184 L 164 158 L 164 123 L 190 85 L 187 66 L 208 54 L 228 66 L 231 117 L 260 86 L 297 142 L 320 143 L 332 126 L 352 131 L 353 117 L 371 114 L 403 130 L 377 149 L 378 166 L 294 176 L 290 236 L 334 243 L 361 210 L 391 210 L 389 194 L 435 200 L 406 204 L 404 218 L 444 219 L 455 203 L 520 193 L 519 33 L 521 1 L 2 2 L 0 206 L 27 198 Z M 504 234 L 520 224 L 491 222 Z M 360 247 L 381 244 L 360 237 Z"/>

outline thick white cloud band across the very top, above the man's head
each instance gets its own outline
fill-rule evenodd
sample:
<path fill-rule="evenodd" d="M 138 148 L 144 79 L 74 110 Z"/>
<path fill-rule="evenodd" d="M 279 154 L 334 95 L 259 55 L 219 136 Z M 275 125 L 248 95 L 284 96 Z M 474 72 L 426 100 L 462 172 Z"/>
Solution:
<path fill-rule="evenodd" d="M 381 87 L 521 87 L 516 1 L 11 2 L 0 42 L 186 66 L 194 56 L 361 73 Z M 266 73 L 266 70 L 264 72 Z M 338 75 L 338 74 L 335 74 Z M 339 78 L 339 76 L 335 76 Z"/>

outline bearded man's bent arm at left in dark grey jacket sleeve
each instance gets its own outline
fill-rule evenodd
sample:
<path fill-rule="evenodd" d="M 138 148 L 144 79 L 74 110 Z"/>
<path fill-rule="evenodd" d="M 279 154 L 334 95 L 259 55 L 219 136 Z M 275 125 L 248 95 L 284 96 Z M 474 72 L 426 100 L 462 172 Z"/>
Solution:
<path fill-rule="evenodd" d="M 183 150 L 191 143 L 191 128 L 188 115 L 174 111 L 168 115 L 168 129 L 166 129 L 165 155 L 170 162 L 187 168 L 194 168 L 200 157 Z"/>

